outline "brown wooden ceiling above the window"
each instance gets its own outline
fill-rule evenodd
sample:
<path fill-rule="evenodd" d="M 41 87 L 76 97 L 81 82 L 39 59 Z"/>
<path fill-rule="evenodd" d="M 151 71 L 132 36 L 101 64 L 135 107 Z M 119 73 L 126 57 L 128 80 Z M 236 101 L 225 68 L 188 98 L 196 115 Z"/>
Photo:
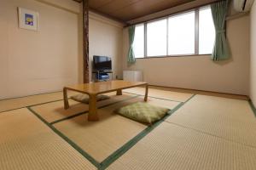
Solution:
<path fill-rule="evenodd" d="M 82 3 L 83 0 L 73 0 Z M 84 0 L 85 1 L 85 0 Z M 127 25 L 155 20 L 219 0 L 87 0 L 91 12 Z M 167 8 L 169 7 L 169 8 Z"/>

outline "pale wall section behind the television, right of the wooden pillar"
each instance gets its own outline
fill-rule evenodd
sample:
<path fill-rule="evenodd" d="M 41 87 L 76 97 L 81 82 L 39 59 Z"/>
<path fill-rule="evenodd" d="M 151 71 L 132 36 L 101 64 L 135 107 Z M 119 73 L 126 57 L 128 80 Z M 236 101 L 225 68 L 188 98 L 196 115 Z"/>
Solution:
<path fill-rule="evenodd" d="M 113 78 L 122 76 L 123 24 L 99 14 L 90 13 L 89 55 L 90 78 L 93 55 L 112 58 Z M 111 76 L 111 75 L 110 75 Z M 91 79 L 90 79 L 91 80 Z"/>

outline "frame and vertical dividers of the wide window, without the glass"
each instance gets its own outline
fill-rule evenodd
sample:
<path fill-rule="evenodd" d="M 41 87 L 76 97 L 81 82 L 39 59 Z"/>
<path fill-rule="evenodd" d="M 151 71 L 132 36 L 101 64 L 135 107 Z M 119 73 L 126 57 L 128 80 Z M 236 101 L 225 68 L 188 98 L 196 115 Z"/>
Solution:
<path fill-rule="evenodd" d="M 144 25 L 144 56 L 143 57 L 139 57 L 136 59 L 150 59 L 150 58 L 166 58 L 166 57 L 188 57 L 188 56 L 208 56 L 208 55 L 212 55 L 212 54 L 199 54 L 199 12 L 201 8 L 208 8 L 209 5 L 207 6 L 203 6 L 200 8 L 193 8 L 193 9 L 189 9 L 177 14 L 170 14 L 167 15 L 165 17 L 160 17 L 158 19 L 154 19 L 154 20 L 148 20 L 146 22 L 143 22 L 141 24 Z M 175 54 L 175 55 L 169 55 L 169 51 L 168 51 L 168 37 L 169 37 L 169 23 L 168 23 L 168 18 L 173 17 L 173 16 L 177 16 L 180 14 L 186 14 L 189 12 L 195 12 L 195 54 Z M 148 42 L 147 42 L 147 35 L 148 35 L 148 23 L 154 22 L 154 21 L 158 21 L 158 20 L 166 20 L 166 55 L 155 55 L 155 56 L 148 56 L 147 52 L 148 52 Z"/>

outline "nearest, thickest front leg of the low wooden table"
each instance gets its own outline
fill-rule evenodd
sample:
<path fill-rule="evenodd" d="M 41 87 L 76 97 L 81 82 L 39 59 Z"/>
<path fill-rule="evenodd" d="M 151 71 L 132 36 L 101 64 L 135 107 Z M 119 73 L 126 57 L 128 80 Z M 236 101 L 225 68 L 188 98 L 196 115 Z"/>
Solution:
<path fill-rule="evenodd" d="M 98 121 L 99 117 L 97 115 L 97 107 L 96 107 L 96 95 L 90 95 L 89 99 L 89 115 L 88 121 Z"/>

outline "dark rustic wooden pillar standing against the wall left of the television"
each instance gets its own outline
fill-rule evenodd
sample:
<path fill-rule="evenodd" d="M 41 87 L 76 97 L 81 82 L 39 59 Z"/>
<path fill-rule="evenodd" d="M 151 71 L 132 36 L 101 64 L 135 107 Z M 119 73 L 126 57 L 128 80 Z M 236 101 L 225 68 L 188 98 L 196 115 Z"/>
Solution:
<path fill-rule="evenodd" d="M 89 80 L 89 0 L 83 1 L 84 83 Z"/>

